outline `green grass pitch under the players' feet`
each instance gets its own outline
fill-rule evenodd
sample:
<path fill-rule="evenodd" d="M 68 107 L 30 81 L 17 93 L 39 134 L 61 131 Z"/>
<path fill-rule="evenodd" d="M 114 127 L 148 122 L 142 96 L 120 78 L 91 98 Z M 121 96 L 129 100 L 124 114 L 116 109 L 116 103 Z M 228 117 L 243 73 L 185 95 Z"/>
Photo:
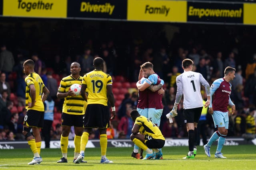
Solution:
<path fill-rule="evenodd" d="M 131 157 L 132 148 L 109 147 L 107 157 L 114 164 L 100 164 L 100 148 L 88 148 L 84 160 L 88 163 L 73 163 L 74 149 L 68 149 L 68 163 L 56 163 L 62 157 L 60 149 L 42 149 L 43 162 L 27 165 L 32 160 L 30 149 L 0 150 L 0 169 L 8 170 L 255 170 L 256 146 L 224 146 L 227 159 L 214 158 L 216 146 L 211 147 L 208 158 L 202 147 L 198 147 L 196 158 L 183 160 L 188 147 L 164 147 L 163 160 L 137 160 Z"/>

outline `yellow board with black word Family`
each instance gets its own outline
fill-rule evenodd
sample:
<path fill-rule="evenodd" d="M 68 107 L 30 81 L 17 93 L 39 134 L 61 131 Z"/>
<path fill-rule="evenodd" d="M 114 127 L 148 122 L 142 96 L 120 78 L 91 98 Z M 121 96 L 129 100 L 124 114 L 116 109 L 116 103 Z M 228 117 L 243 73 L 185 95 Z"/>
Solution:
<path fill-rule="evenodd" d="M 186 22 L 187 1 L 128 0 L 127 20 Z"/>

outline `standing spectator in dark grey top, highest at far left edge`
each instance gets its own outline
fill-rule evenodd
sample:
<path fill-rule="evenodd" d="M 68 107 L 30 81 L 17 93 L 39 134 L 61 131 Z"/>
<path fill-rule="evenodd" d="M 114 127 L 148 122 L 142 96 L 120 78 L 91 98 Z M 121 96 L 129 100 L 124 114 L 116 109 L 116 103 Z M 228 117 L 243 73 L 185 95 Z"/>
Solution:
<path fill-rule="evenodd" d="M 0 71 L 6 74 L 5 80 L 8 81 L 8 76 L 12 72 L 14 66 L 14 58 L 12 52 L 6 49 L 6 45 L 1 45 L 0 54 Z"/>

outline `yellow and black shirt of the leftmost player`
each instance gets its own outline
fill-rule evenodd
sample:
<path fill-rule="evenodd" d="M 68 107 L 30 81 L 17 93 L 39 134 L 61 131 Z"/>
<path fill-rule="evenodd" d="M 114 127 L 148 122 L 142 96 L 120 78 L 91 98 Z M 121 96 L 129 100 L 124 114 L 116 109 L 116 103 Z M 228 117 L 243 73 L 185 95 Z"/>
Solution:
<path fill-rule="evenodd" d="M 32 72 L 28 74 L 28 76 L 25 78 L 26 82 L 26 109 L 30 110 L 37 110 L 37 111 L 44 111 L 44 103 L 42 102 L 42 94 L 43 94 L 43 88 L 44 82 L 42 78 L 35 72 Z M 29 86 L 34 84 L 36 89 L 36 102 L 33 107 L 28 107 L 28 102 L 32 102 L 31 96 L 30 96 L 30 89 Z"/>

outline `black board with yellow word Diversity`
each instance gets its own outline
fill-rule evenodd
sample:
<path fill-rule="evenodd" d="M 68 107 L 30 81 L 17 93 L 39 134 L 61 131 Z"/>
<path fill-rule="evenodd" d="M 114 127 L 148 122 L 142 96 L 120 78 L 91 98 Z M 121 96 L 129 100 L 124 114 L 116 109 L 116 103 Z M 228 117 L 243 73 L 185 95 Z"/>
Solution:
<path fill-rule="evenodd" d="M 68 0 L 68 18 L 123 19 L 127 0 Z"/>

